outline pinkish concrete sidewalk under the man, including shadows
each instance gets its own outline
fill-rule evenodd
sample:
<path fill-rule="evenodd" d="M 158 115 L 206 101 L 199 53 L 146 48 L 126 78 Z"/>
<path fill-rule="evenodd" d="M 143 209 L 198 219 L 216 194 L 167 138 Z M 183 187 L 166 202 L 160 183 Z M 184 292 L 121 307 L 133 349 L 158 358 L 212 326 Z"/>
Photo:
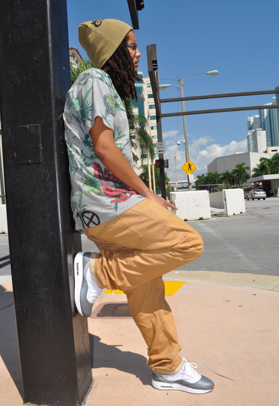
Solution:
<path fill-rule="evenodd" d="M 173 271 L 165 280 L 186 280 L 166 300 L 182 356 L 215 382 L 214 390 L 192 395 L 152 388 L 146 344 L 132 318 L 96 316 L 106 303 L 127 303 L 125 295 L 105 294 L 89 318 L 94 368 L 85 405 L 277 406 L 279 277 Z M 0 406 L 20 406 L 11 283 L 0 284 L 0 329 Z"/>

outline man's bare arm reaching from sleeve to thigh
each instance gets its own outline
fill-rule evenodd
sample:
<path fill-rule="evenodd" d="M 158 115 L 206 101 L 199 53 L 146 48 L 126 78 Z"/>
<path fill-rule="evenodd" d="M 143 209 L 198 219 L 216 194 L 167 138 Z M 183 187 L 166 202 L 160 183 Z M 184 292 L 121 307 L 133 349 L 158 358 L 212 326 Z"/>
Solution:
<path fill-rule="evenodd" d="M 145 185 L 133 170 L 123 153 L 117 147 L 113 130 L 104 125 L 101 117 L 96 117 L 95 123 L 90 130 L 95 153 L 110 172 L 131 189 L 138 192 L 141 196 L 150 200 L 155 200 L 163 207 L 171 207 L 177 210 L 172 203 L 167 202 L 161 196 L 155 195 Z"/>

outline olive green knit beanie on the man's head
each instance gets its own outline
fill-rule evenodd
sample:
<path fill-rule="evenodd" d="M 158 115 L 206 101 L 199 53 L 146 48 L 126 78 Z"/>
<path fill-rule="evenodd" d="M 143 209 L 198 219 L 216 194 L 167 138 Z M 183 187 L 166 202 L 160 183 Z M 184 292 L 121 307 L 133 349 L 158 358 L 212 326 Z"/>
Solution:
<path fill-rule="evenodd" d="M 119 20 L 92 20 L 78 27 L 78 39 L 91 62 L 101 68 L 132 29 Z"/>

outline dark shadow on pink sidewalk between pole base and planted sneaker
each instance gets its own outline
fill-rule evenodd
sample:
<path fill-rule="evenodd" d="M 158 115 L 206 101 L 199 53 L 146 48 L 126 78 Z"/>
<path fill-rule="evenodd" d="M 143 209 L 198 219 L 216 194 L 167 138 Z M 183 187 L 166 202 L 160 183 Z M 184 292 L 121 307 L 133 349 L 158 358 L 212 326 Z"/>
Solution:
<path fill-rule="evenodd" d="M 143 355 L 121 351 L 118 345 L 108 345 L 97 335 L 89 334 L 92 368 L 116 368 L 135 375 L 143 385 L 150 386 L 151 372 Z"/>

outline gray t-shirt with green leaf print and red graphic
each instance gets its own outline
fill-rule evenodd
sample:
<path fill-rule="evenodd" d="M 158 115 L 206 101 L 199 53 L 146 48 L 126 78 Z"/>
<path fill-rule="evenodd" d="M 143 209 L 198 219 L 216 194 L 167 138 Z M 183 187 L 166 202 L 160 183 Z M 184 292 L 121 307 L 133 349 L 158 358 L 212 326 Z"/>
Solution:
<path fill-rule="evenodd" d="M 114 131 L 117 147 L 133 167 L 125 107 L 110 76 L 92 68 L 70 88 L 63 115 L 76 229 L 111 220 L 145 199 L 117 179 L 95 154 L 89 131 L 97 116 Z"/>

